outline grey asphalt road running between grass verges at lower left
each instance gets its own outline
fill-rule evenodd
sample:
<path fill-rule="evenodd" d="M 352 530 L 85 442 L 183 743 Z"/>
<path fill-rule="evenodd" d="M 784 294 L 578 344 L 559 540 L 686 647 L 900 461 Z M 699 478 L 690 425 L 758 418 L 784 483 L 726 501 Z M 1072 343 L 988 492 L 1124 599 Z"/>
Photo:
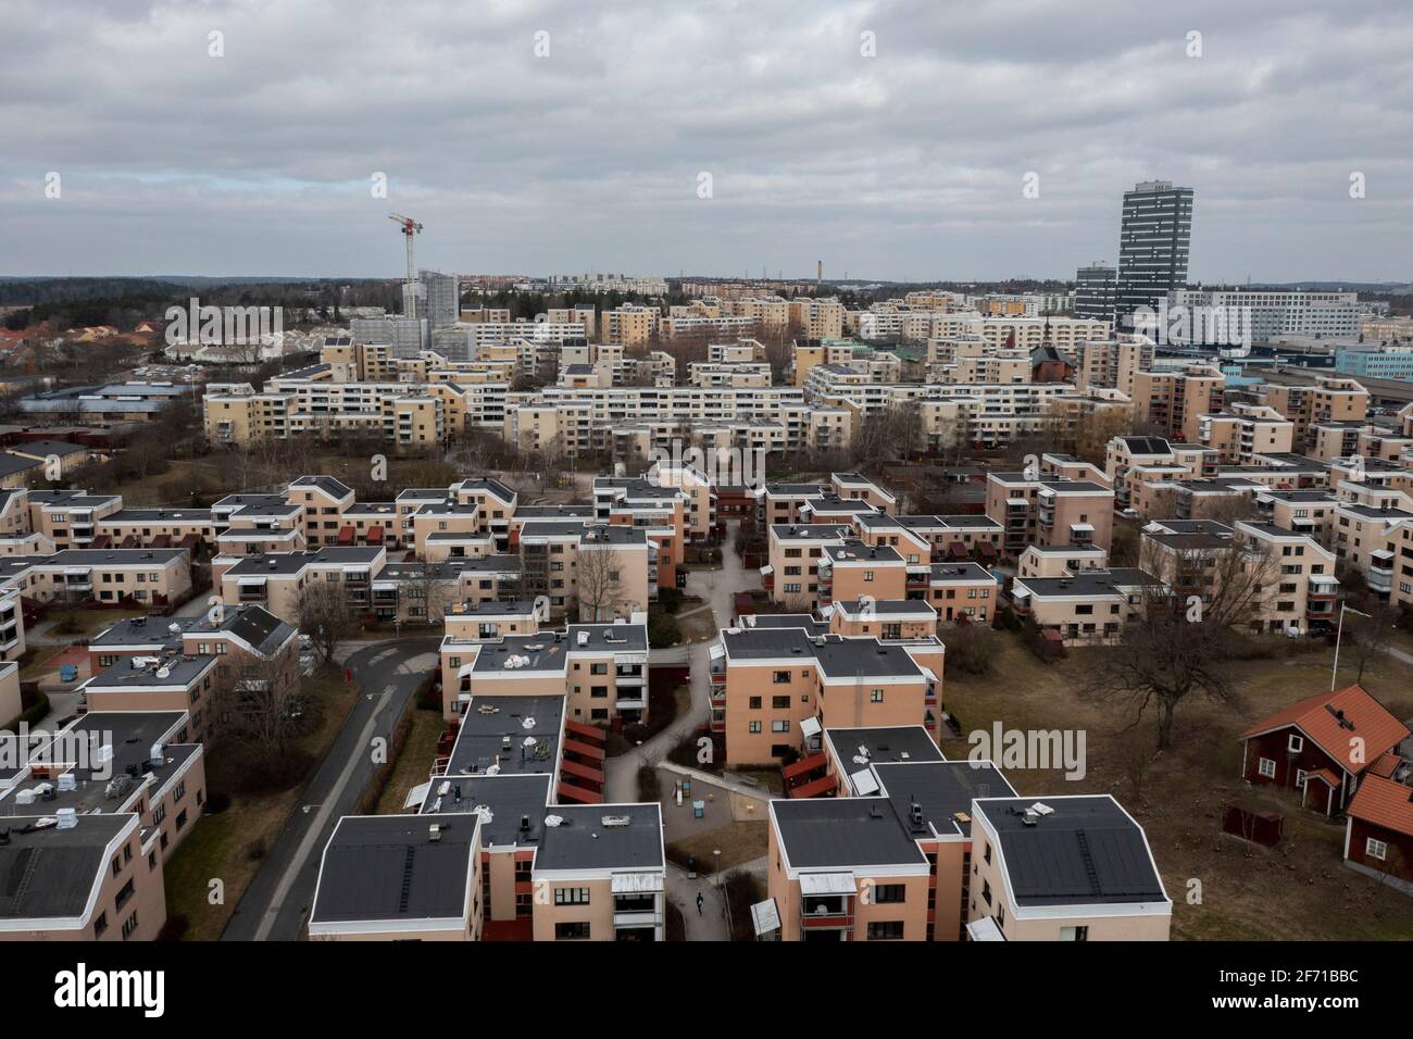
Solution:
<path fill-rule="evenodd" d="M 438 639 L 377 642 L 348 656 L 346 666 L 362 683 L 363 695 L 236 906 L 222 940 L 298 937 L 314 900 L 324 845 L 373 777 L 373 738 L 391 736 L 413 691 L 437 662 L 437 645 Z"/>

